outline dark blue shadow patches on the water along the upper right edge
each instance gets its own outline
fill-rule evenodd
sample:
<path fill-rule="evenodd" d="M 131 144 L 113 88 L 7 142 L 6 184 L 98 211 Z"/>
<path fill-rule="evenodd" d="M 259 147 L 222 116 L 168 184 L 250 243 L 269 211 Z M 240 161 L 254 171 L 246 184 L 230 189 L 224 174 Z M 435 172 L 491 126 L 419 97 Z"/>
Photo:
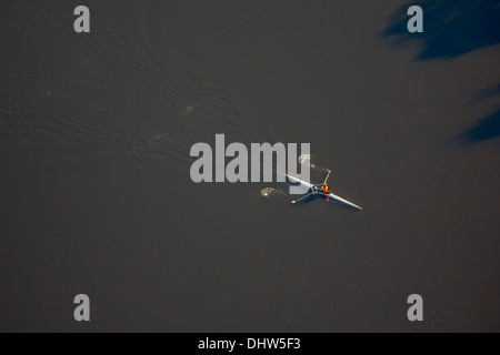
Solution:
<path fill-rule="evenodd" d="M 410 6 L 423 10 L 423 33 L 409 33 L 407 14 Z M 414 60 L 451 60 L 477 49 L 500 43 L 500 0 L 420 0 L 398 8 L 382 32 L 396 49 L 418 44 Z M 500 83 L 472 102 L 500 94 Z M 481 118 L 460 135 L 460 142 L 470 144 L 500 138 L 500 108 Z"/>

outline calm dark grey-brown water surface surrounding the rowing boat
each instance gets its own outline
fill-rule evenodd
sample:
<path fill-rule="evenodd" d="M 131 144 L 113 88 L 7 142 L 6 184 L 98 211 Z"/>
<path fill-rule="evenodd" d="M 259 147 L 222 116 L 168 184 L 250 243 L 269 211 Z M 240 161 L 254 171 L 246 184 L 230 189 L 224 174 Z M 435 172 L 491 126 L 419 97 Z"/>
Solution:
<path fill-rule="evenodd" d="M 0 332 L 500 331 L 499 1 L 417 3 L 3 0 Z M 364 210 L 194 184 L 216 133 Z"/>

